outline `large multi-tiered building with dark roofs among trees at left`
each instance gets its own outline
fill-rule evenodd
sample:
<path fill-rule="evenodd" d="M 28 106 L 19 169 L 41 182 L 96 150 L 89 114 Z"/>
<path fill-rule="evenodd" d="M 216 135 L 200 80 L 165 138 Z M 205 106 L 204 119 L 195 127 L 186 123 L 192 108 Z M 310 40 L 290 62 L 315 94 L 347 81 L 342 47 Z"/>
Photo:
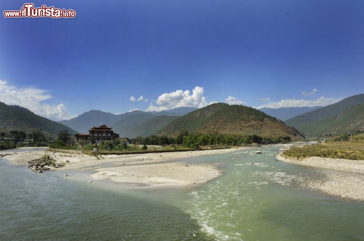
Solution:
<path fill-rule="evenodd" d="M 88 134 L 76 134 L 76 142 L 95 139 L 95 142 L 100 144 L 102 141 L 112 141 L 115 138 L 119 138 L 119 134 L 114 133 L 111 129 L 105 124 L 100 127 L 92 127 L 88 130 Z"/>

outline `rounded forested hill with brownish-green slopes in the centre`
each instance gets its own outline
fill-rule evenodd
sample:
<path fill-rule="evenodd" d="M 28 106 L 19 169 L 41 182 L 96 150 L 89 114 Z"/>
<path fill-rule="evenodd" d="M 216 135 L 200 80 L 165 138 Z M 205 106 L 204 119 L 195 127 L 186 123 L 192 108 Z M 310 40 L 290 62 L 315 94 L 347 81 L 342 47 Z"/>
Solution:
<path fill-rule="evenodd" d="M 159 135 L 177 136 L 189 133 L 247 134 L 261 137 L 289 136 L 292 140 L 304 137 L 296 129 L 277 118 L 252 107 L 216 103 L 179 117 L 159 131 Z"/>

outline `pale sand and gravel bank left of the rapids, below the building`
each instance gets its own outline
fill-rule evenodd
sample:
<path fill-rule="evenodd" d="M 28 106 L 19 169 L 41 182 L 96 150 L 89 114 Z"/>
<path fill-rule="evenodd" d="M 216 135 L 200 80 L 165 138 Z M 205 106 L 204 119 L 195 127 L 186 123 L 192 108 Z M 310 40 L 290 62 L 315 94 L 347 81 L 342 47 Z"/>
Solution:
<path fill-rule="evenodd" d="M 221 175 L 216 165 L 175 162 L 181 158 L 217 155 L 248 148 L 230 148 L 188 152 L 147 153 L 132 155 L 90 156 L 75 150 L 45 150 L 8 153 L 4 156 L 13 165 L 27 165 L 28 161 L 49 155 L 57 163 L 65 164 L 63 171 L 92 171 L 94 179 L 141 186 L 188 186 L 206 183 Z M 173 163 L 168 163 L 173 161 Z"/>

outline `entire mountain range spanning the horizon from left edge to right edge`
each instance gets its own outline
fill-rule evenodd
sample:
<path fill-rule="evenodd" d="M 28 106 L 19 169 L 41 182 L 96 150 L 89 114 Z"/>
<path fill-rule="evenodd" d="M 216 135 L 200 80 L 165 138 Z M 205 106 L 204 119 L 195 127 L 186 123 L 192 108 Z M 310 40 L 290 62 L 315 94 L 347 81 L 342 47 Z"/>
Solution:
<path fill-rule="evenodd" d="M 211 104 L 200 109 L 181 107 L 160 112 L 135 110 L 123 114 L 90 110 L 57 123 L 24 107 L 0 102 L 0 130 L 22 130 L 29 133 L 39 129 L 52 135 L 67 130 L 75 134 L 87 133 L 93 126 L 106 124 L 121 137 L 128 138 L 149 135 L 175 136 L 182 131 L 188 131 L 256 134 L 262 137 L 286 135 L 292 139 L 301 138 L 301 133 L 306 137 L 321 137 L 364 131 L 364 94 L 350 96 L 325 107 L 262 110 L 264 112 L 252 107 L 224 103 Z M 306 110 L 308 112 L 289 118 L 285 123 L 279 120 Z"/>

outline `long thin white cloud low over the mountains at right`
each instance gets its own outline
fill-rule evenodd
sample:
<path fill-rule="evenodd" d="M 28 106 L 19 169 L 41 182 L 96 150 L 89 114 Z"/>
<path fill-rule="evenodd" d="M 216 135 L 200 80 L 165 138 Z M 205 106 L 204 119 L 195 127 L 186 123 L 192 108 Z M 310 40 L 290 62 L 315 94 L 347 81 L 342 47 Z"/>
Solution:
<path fill-rule="evenodd" d="M 313 107 L 313 106 L 326 106 L 340 101 L 341 99 L 335 98 L 325 98 L 319 97 L 314 100 L 305 100 L 305 99 L 284 99 L 278 102 L 272 102 L 269 104 L 261 105 L 256 107 L 257 109 L 267 107 L 267 108 L 280 108 L 280 107 Z"/>

